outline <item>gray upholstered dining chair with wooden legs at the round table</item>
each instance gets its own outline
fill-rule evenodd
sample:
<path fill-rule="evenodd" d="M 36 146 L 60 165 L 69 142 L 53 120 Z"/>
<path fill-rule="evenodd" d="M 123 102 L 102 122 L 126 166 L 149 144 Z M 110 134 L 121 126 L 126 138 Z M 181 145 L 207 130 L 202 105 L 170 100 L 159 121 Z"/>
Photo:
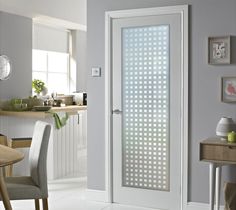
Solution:
<path fill-rule="evenodd" d="M 34 127 L 29 152 L 30 176 L 6 177 L 10 200 L 34 199 L 35 209 L 39 210 L 39 199 L 43 210 L 48 210 L 47 150 L 51 125 L 37 121 Z"/>

